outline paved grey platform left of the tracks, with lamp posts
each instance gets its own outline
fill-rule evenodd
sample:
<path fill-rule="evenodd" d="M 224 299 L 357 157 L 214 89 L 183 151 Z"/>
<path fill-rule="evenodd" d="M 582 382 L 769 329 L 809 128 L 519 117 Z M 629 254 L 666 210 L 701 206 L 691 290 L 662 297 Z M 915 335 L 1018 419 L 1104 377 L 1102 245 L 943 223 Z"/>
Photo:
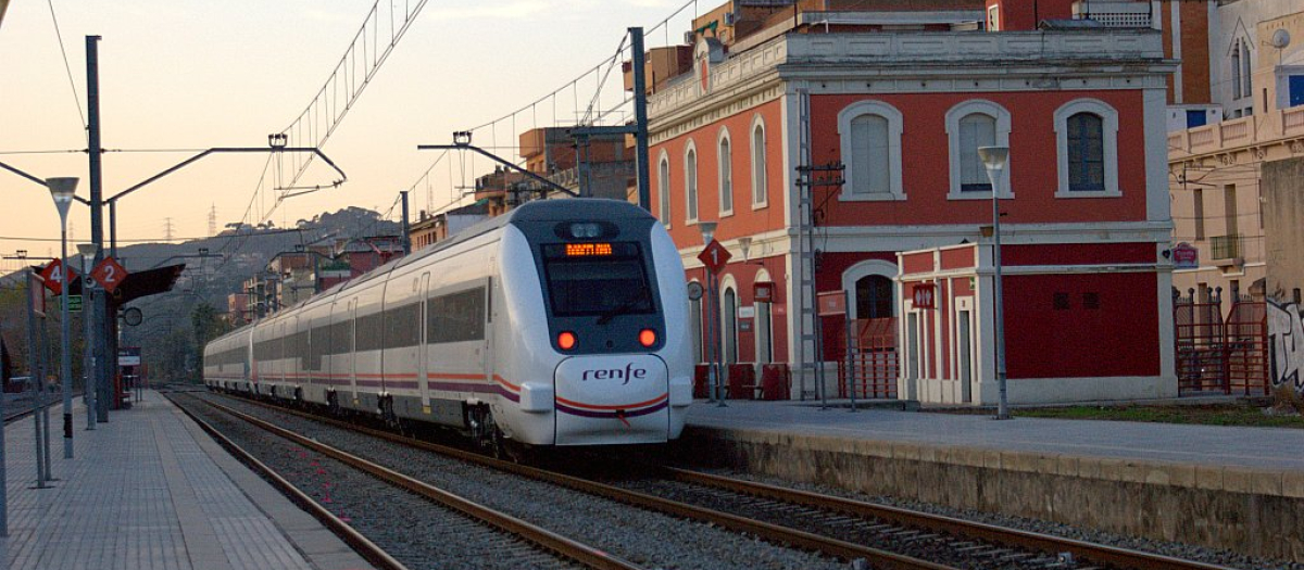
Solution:
<path fill-rule="evenodd" d="M 35 488 L 31 418 L 5 428 L 12 570 L 353 570 L 348 545 L 237 462 L 180 410 L 146 390 L 130 410 L 86 431 L 73 413 L 63 458 L 51 409 L 51 471 Z"/>

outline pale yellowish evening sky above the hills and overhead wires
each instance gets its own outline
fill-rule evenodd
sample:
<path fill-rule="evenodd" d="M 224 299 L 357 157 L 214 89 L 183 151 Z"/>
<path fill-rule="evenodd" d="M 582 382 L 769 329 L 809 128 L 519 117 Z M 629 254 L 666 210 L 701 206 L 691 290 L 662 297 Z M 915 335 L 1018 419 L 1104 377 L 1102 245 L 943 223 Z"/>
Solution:
<path fill-rule="evenodd" d="M 378 8 L 382 22 L 391 12 L 402 21 L 420 4 L 383 1 L 393 4 Z M 102 36 L 102 144 L 110 151 L 104 198 L 203 148 L 265 147 L 269 134 L 289 128 L 314 100 L 373 4 L 10 0 L 0 21 L 0 161 L 39 178 L 80 177 L 77 194 L 89 197 L 82 152 L 87 35 Z M 278 206 L 270 187 L 288 182 L 289 161 L 279 163 L 278 176 L 278 161 L 266 155 L 210 155 L 123 198 L 120 245 L 162 241 L 168 226 L 175 238 L 209 236 L 213 210 L 220 230 L 241 220 L 292 226 L 348 206 L 389 212 L 407 189 L 413 189 L 413 220 L 420 210 L 464 200 L 464 185 L 489 163 L 458 154 L 441 159 L 417 144 L 451 143 L 455 130 L 493 124 L 472 142 L 515 157 L 509 148 L 514 131 L 569 121 L 600 85 L 606 86 L 600 107 L 617 105 L 623 98 L 619 69 L 602 82 L 602 64 L 618 52 L 627 27 L 648 29 L 648 48 L 677 42 L 694 13 L 716 4 L 690 3 L 657 29 L 685 0 L 429 0 L 322 146 L 347 183 Z M 391 35 L 387 26 L 370 33 L 381 48 Z M 507 120 L 493 122 L 502 117 Z M 299 185 L 336 177 L 318 163 Z M 257 191 L 259 181 L 269 190 Z M 0 169 L 0 254 L 57 256 L 59 215 L 48 191 Z M 391 212 L 398 219 L 399 210 Z M 76 242 L 90 239 L 89 208 L 73 204 L 68 220 L 69 251 L 76 251 Z M 107 208 L 104 232 L 107 239 Z M 0 267 L 12 271 L 18 263 Z"/>

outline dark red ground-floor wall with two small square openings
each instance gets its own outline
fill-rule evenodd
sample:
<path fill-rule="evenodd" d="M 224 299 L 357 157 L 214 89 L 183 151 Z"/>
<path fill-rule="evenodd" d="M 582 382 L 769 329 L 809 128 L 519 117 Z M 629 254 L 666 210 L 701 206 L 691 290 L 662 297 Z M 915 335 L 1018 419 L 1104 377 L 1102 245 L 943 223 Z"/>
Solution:
<path fill-rule="evenodd" d="M 1009 377 L 1157 376 L 1157 288 L 1154 273 L 1007 275 Z M 1055 308 L 1056 293 L 1069 308 Z M 1084 307 L 1086 293 L 1099 308 Z"/>

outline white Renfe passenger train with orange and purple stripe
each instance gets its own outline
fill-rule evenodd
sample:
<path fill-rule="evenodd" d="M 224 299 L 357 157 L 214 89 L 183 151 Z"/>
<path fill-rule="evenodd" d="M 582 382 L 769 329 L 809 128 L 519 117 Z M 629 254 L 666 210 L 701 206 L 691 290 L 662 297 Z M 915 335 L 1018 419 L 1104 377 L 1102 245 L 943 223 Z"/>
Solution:
<path fill-rule="evenodd" d="M 214 340 L 203 377 L 494 449 L 665 442 L 692 402 L 687 320 L 648 212 L 536 200 Z"/>

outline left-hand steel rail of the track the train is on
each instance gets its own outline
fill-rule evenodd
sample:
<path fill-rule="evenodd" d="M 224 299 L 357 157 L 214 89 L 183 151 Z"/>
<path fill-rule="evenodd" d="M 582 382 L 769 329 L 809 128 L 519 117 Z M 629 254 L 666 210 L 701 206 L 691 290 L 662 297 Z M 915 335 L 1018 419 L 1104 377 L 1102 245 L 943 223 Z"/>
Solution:
<path fill-rule="evenodd" d="M 346 429 L 357 431 L 370 436 L 381 437 L 387 441 L 393 441 L 400 445 L 407 445 L 449 457 L 454 457 L 463 461 L 475 462 L 488 467 L 498 468 L 501 471 L 509 471 L 516 475 L 527 476 L 536 480 L 542 480 L 553 483 L 570 489 L 580 491 L 588 495 L 600 496 L 610 498 L 613 501 L 623 502 L 627 505 L 639 506 L 647 510 L 653 510 L 659 513 L 670 514 L 674 517 L 687 518 L 699 522 L 708 522 L 720 527 L 733 530 L 735 532 L 747 532 L 762 539 L 769 540 L 772 543 L 786 544 L 790 547 L 820 552 L 824 554 L 835 556 L 842 560 L 854 561 L 857 558 L 863 558 L 870 562 L 872 567 L 876 569 L 913 569 L 913 570 L 955 570 L 951 566 L 928 562 L 926 560 L 919 560 L 904 554 L 897 554 L 888 550 L 882 550 L 878 548 L 870 548 L 861 544 L 848 543 L 844 540 L 837 540 L 827 536 L 820 536 L 812 532 L 806 532 L 795 528 L 789 528 L 778 524 L 771 524 L 765 522 L 752 521 L 745 517 L 738 517 L 729 513 L 721 513 L 712 509 L 705 509 L 695 505 L 689 505 L 679 501 L 672 501 L 668 498 L 661 498 L 653 495 L 640 493 L 636 491 L 622 489 L 619 487 L 608 485 L 604 483 L 597 483 L 593 480 L 576 478 L 571 475 L 563 475 L 554 471 L 546 471 L 536 467 L 529 467 L 519 463 L 512 463 L 502 459 L 494 459 L 490 457 L 480 455 L 477 453 L 466 452 L 456 448 L 450 448 L 446 445 L 432 444 L 421 440 L 413 440 L 411 437 L 390 433 L 381 429 L 373 429 L 368 427 L 353 426 L 347 422 L 340 422 L 331 418 L 322 418 L 318 415 L 305 414 L 297 410 L 288 410 L 279 406 L 271 406 L 262 402 L 250 402 L 259 406 L 270 407 L 278 411 L 295 414 L 303 418 L 309 418 L 317 422 L 326 422 L 329 424 L 342 427 Z"/>

